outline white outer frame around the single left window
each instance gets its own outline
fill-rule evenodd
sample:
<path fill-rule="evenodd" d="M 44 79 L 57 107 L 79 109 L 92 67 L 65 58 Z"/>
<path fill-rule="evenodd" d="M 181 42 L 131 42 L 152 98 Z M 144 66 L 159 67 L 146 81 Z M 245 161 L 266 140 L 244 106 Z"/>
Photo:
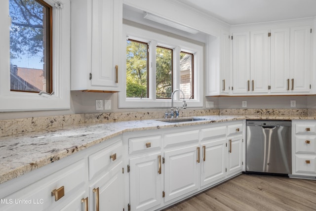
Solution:
<path fill-rule="evenodd" d="M 0 112 L 70 109 L 70 0 L 53 7 L 53 95 L 10 91 L 9 1 L 0 1 Z"/>

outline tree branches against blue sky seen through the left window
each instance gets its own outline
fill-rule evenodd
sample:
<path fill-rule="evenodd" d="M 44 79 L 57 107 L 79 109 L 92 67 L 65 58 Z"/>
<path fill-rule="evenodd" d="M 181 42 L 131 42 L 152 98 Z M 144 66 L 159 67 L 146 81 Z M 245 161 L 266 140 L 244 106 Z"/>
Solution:
<path fill-rule="evenodd" d="M 42 54 L 43 8 L 36 0 L 9 0 L 11 59 Z"/>

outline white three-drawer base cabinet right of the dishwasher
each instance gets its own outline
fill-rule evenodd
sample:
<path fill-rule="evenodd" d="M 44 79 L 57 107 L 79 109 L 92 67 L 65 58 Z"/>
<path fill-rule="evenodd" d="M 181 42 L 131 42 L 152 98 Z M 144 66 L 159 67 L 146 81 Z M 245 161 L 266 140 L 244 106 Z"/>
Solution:
<path fill-rule="evenodd" d="M 292 121 L 292 175 L 316 177 L 316 121 Z"/>

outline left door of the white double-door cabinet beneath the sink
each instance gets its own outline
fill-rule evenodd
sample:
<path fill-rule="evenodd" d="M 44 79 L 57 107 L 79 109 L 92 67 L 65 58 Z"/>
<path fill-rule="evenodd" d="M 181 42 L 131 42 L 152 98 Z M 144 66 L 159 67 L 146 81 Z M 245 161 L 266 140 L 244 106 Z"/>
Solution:
<path fill-rule="evenodd" d="M 164 201 L 168 202 L 199 187 L 198 145 L 164 152 Z"/>

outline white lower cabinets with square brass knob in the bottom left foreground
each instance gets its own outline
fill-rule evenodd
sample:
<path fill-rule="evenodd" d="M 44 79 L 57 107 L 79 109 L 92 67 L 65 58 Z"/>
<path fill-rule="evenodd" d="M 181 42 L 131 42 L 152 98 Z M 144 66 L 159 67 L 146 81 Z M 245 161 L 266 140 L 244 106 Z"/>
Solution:
<path fill-rule="evenodd" d="M 123 185 L 118 136 L 1 184 L 0 210 L 123 210 Z"/>

